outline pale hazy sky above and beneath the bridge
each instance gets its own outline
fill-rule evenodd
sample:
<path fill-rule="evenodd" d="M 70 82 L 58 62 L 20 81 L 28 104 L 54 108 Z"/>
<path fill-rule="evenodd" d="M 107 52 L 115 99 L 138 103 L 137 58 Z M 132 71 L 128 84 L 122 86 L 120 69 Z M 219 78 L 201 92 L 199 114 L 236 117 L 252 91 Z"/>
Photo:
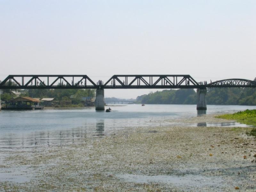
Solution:
<path fill-rule="evenodd" d="M 0 0 L 0 79 L 8 75 L 256 77 L 256 1 Z M 155 90 L 105 90 L 136 98 Z"/>

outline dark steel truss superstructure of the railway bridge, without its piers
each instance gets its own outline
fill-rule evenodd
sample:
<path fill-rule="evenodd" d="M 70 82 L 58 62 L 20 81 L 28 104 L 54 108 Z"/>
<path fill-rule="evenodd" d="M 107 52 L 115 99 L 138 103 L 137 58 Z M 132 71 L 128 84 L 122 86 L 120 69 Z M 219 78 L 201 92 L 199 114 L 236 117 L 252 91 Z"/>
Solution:
<path fill-rule="evenodd" d="M 0 89 L 206 89 L 212 87 L 254 87 L 247 79 L 196 82 L 190 75 L 114 75 L 105 84 L 87 75 L 9 75 Z"/>

